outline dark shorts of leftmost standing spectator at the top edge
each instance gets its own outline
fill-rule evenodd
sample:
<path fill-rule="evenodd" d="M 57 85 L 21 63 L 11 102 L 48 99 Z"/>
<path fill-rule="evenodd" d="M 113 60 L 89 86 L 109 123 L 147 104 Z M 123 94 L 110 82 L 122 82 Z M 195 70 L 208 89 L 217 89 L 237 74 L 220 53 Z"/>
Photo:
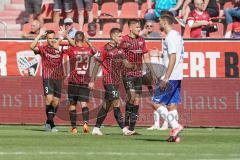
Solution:
<path fill-rule="evenodd" d="M 28 14 L 40 14 L 42 12 L 42 0 L 24 0 Z"/>

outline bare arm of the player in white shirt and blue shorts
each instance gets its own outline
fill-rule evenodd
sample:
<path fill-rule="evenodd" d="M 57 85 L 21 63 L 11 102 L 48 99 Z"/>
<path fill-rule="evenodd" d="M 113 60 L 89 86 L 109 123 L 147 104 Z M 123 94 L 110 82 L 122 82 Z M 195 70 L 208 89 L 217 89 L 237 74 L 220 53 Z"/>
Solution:
<path fill-rule="evenodd" d="M 162 90 L 164 90 L 166 88 L 167 82 L 169 80 L 169 77 L 172 74 L 175 63 L 176 63 L 176 53 L 172 53 L 172 54 L 169 55 L 168 67 L 167 67 L 167 70 L 164 74 L 164 78 L 162 79 L 162 81 L 160 83 L 160 88 Z"/>

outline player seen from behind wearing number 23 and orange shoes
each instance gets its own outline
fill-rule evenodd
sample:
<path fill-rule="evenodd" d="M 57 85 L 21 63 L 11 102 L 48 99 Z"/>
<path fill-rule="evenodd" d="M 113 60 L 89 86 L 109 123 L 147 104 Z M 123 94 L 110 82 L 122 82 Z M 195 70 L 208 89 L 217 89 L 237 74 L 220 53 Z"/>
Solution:
<path fill-rule="evenodd" d="M 87 37 L 83 32 L 77 31 L 75 34 L 75 43 L 72 42 L 71 38 L 66 37 L 71 46 L 65 51 L 65 54 L 70 59 L 70 74 L 68 77 L 68 100 L 69 106 L 69 117 L 72 125 L 71 132 L 77 133 L 77 111 L 76 105 L 80 101 L 82 106 L 83 116 L 83 132 L 89 133 L 88 121 L 89 121 L 89 93 L 88 87 L 90 82 L 89 68 L 91 57 L 95 54 L 95 50 Z M 84 47 L 83 44 L 86 42 L 89 47 Z"/>

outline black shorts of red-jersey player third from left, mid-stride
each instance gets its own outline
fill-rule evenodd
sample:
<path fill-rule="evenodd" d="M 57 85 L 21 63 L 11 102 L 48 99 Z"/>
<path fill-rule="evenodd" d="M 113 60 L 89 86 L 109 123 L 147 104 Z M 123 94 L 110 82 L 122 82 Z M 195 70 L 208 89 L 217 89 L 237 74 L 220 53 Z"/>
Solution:
<path fill-rule="evenodd" d="M 119 99 L 119 91 L 118 91 L 118 87 L 116 85 L 113 84 L 109 84 L 109 85 L 104 85 L 104 89 L 105 89 L 105 100 L 108 101 L 113 101 L 113 100 L 117 100 Z"/>

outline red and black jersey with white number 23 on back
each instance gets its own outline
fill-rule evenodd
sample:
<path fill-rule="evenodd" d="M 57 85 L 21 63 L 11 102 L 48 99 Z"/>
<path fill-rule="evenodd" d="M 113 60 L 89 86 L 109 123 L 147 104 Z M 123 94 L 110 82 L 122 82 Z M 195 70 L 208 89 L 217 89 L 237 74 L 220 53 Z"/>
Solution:
<path fill-rule="evenodd" d="M 94 55 L 92 49 L 88 47 L 70 47 L 65 50 L 69 56 L 70 74 L 68 81 L 74 84 L 88 84 L 90 81 L 90 62 Z"/>

